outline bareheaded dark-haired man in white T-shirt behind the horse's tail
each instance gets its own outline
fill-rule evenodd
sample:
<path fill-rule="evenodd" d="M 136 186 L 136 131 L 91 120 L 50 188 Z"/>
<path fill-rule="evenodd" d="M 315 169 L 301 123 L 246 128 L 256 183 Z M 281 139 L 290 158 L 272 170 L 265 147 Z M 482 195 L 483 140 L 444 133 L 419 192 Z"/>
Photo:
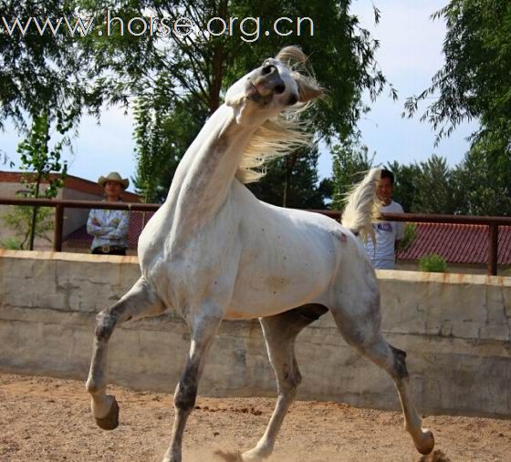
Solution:
<path fill-rule="evenodd" d="M 392 200 L 394 192 L 394 174 L 387 169 L 381 170 L 378 186 L 378 197 L 381 200 L 381 213 L 403 213 L 401 204 Z M 404 237 L 403 221 L 377 221 L 373 224 L 376 235 L 376 247 L 370 239 L 366 242 L 366 252 L 375 268 L 393 270 L 395 268 L 395 252 L 399 241 Z"/>

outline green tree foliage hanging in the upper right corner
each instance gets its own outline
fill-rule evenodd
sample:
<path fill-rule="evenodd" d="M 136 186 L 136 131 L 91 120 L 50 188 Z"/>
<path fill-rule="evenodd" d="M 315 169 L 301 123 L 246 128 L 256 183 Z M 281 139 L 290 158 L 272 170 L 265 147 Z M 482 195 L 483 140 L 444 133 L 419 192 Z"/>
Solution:
<path fill-rule="evenodd" d="M 511 4 L 498 0 L 451 0 L 433 15 L 443 18 L 447 35 L 443 42 L 445 64 L 432 85 L 406 108 L 412 116 L 418 103 L 438 98 L 422 120 L 448 136 L 464 120 L 478 118 L 474 139 L 489 137 L 509 153 L 511 148 Z"/>

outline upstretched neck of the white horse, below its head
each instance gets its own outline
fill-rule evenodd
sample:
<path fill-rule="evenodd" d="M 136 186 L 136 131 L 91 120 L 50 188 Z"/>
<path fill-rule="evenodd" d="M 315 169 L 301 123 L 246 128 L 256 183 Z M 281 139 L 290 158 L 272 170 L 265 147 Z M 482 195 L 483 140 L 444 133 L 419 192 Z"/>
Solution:
<path fill-rule="evenodd" d="M 206 122 L 183 156 L 166 200 L 180 231 L 210 221 L 222 207 L 254 130 L 237 124 L 226 106 Z"/>

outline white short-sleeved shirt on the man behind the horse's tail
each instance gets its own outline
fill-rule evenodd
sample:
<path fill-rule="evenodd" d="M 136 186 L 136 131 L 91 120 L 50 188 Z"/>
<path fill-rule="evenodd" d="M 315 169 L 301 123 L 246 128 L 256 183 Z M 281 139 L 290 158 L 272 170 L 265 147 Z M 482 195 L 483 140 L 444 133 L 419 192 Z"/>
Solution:
<path fill-rule="evenodd" d="M 380 209 L 381 213 L 403 213 L 401 204 L 393 200 L 389 205 Z M 376 249 L 372 240 L 366 242 L 366 252 L 375 268 L 381 270 L 393 270 L 395 267 L 395 241 L 404 237 L 403 221 L 377 221 L 373 225 L 376 234 Z"/>

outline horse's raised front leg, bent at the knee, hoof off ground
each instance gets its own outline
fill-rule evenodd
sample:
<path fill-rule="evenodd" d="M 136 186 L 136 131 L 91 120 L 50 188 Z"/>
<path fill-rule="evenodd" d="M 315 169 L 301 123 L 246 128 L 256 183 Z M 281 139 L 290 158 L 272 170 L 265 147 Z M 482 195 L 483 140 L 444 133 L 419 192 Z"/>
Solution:
<path fill-rule="evenodd" d="M 94 346 L 86 389 L 92 396 L 91 410 L 98 426 L 112 430 L 119 425 L 119 406 L 113 395 L 107 395 L 107 350 L 116 325 L 133 318 L 163 313 L 166 307 L 148 282 L 139 279 L 119 302 L 98 313 Z"/>

